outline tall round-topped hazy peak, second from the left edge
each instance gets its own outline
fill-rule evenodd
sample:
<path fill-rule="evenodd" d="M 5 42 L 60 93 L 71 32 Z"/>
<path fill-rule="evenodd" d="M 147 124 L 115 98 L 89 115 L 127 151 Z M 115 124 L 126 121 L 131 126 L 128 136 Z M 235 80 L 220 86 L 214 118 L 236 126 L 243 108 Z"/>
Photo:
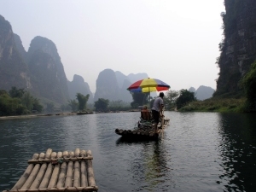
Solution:
<path fill-rule="evenodd" d="M 67 102 L 67 78 L 52 41 L 39 36 L 33 38 L 27 51 L 27 64 L 31 73 L 32 93 L 55 102 Z"/>

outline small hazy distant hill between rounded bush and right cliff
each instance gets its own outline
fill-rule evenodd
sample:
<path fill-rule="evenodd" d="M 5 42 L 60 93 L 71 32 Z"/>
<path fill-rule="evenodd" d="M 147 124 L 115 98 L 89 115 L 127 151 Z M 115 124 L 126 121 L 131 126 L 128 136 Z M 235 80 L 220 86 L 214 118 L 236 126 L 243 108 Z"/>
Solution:
<path fill-rule="evenodd" d="M 189 88 L 190 92 L 195 92 L 195 97 L 198 100 L 206 100 L 208 98 L 212 97 L 212 94 L 214 93 L 215 90 L 212 89 L 212 87 L 207 87 L 204 85 L 201 85 L 197 90 L 195 90 L 194 87 Z"/>

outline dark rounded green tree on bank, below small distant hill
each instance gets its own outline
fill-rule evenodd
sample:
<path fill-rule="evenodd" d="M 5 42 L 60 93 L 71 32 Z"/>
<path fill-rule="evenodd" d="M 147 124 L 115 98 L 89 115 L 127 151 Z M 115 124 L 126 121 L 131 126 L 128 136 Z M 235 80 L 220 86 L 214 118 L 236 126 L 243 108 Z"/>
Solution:
<path fill-rule="evenodd" d="M 179 96 L 177 97 L 176 106 L 177 109 L 182 108 L 189 102 L 196 101 L 195 93 L 190 92 L 189 90 L 180 90 Z"/>

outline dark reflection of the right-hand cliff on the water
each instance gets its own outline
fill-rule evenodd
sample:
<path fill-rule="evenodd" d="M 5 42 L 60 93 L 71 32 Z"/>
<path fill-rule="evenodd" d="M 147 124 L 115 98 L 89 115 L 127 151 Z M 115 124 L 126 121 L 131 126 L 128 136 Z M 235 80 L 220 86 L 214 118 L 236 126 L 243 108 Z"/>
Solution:
<path fill-rule="evenodd" d="M 227 191 L 253 191 L 255 184 L 255 114 L 220 114 L 219 165 L 217 183 Z M 254 153 L 253 153 L 254 152 Z"/>

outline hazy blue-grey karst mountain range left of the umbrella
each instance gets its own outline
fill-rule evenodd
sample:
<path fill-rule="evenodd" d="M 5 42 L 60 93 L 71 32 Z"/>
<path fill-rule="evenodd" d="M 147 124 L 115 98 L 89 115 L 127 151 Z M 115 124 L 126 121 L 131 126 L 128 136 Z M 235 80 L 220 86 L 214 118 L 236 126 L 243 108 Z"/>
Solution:
<path fill-rule="evenodd" d="M 72 81 L 67 80 L 61 57 L 51 40 L 37 36 L 26 52 L 19 35 L 13 33 L 9 21 L 0 15 L 0 90 L 10 90 L 12 86 L 24 88 L 44 104 L 65 104 L 69 99 L 75 99 L 77 93 L 89 94 L 90 103 L 98 98 L 132 102 L 132 96 L 126 89 L 145 78 L 148 78 L 147 73 L 125 76 L 119 71 L 104 69 L 96 79 L 93 96 L 89 84 L 79 74 L 74 74 Z"/>

